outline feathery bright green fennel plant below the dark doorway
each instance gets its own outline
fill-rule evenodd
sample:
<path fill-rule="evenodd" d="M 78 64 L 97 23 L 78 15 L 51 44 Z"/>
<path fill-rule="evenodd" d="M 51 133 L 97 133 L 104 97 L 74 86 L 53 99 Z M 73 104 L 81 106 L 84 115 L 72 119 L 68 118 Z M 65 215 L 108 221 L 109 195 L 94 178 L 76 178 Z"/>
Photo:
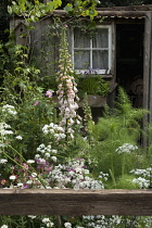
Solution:
<path fill-rule="evenodd" d="M 139 159 L 140 150 L 127 154 L 118 154 L 116 149 L 124 143 L 136 145 L 140 139 L 141 118 L 145 110 L 136 110 L 131 106 L 125 91 L 119 88 L 117 109 L 112 113 L 106 110 L 104 117 L 101 117 L 97 125 L 90 124 L 89 138 L 92 139 L 89 156 L 96 159 L 94 172 L 103 170 L 115 177 L 127 174 L 134 166 L 140 166 L 143 157 Z"/>

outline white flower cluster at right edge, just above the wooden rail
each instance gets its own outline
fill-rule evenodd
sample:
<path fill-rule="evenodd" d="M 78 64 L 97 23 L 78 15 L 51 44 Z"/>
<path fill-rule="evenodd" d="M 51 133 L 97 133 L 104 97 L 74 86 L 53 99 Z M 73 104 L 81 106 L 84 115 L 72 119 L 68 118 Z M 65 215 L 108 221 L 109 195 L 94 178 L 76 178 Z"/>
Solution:
<path fill-rule="evenodd" d="M 150 187 L 150 179 L 152 178 L 152 168 L 139 168 L 130 170 L 131 174 L 139 176 L 138 178 L 134 178 L 132 182 L 137 183 L 140 189 L 147 189 Z"/>

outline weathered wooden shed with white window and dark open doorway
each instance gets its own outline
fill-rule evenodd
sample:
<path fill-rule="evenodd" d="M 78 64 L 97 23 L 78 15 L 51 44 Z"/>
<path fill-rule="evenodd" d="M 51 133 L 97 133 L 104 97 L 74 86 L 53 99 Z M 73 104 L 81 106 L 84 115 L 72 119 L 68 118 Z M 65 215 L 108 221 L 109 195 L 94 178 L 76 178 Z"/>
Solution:
<path fill-rule="evenodd" d="M 59 40 L 55 36 L 49 36 L 48 31 L 55 17 L 64 23 L 73 20 L 65 11 L 55 10 L 35 24 L 36 28 L 28 39 L 31 53 L 37 60 L 41 58 L 41 67 L 46 65 L 47 69 L 43 71 L 50 75 L 59 56 Z M 21 21 L 12 21 L 12 27 L 18 28 Z M 152 122 L 152 4 L 101 8 L 94 21 L 97 31 L 93 38 L 87 38 L 78 28 L 68 29 L 75 71 L 98 69 L 101 77 L 110 80 L 107 102 L 111 106 L 116 87 L 122 86 L 136 107 L 150 111 L 144 123 Z"/>

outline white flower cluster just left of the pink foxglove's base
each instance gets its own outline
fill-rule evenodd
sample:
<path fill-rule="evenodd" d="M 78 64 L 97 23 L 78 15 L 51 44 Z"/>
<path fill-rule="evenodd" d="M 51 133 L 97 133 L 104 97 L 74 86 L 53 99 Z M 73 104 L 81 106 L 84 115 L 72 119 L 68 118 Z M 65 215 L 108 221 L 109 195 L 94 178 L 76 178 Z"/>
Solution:
<path fill-rule="evenodd" d="M 45 135 L 51 135 L 51 137 L 53 137 L 56 141 L 60 141 L 61 139 L 64 139 L 66 137 L 64 134 L 64 129 L 53 123 L 45 125 L 42 131 Z"/>

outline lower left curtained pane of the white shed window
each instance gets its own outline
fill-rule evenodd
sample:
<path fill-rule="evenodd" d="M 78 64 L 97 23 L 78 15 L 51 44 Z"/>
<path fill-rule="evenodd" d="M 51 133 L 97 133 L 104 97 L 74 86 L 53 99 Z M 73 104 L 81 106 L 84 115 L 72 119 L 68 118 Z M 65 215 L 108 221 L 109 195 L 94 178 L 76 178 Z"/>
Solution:
<path fill-rule="evenodd" d="M 90 52 L 89 51 L 75 51 L 75 69 L 86 69 L 90 66 Z"/>

